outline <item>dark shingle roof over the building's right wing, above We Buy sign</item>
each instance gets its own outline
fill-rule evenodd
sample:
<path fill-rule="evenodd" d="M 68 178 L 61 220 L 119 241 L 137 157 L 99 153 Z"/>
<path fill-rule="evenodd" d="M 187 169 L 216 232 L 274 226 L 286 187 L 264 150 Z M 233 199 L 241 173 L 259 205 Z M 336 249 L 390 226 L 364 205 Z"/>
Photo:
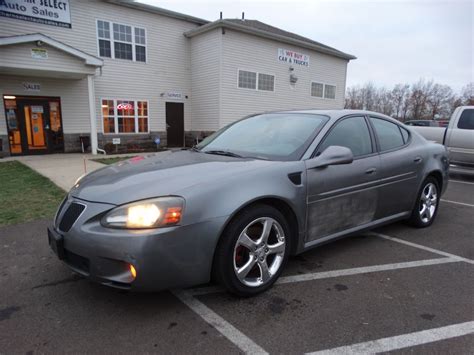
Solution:
<path fill-rule="evenodd" d="M 256 35 L 256 36 L 272 38 L 280 42 L 287 42 L 287 43 L 299 45 L 302 47 L 310 48 L 319 52 L 334 55 L 336 57 L 340 57 L 340 58 L 344 58 L 348 60 L 356 59 L 356 57 L 351 54 L 341 52 L 333 47 L 327 46 L 325 44 L 314 41 L 307 37 L 300 36 L 296 33 L 288 32 L 278 27 L 267 25 L 266 23 L 263 23 L 258 20 L 240 20 L 240 19 L 217 20 L 217 21 L 205 24 L 203 26 L 197 27 L 191 31 L 188 31 L 184 35 L 186 37 L 193 37 L 217 27 L 228 27 L 231 29 L 235 29 L 237 31 L 247 32 L 249 34 Z"/>

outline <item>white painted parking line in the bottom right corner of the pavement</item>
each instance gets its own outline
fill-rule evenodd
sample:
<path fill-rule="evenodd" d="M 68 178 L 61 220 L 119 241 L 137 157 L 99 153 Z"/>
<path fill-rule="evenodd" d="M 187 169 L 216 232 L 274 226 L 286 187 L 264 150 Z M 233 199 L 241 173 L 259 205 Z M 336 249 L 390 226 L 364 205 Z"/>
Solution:
<path fill-rule="evenodd" d="M 446 327 L 422 330 L 419 332 L 397 335 L 365 343 L 358 343 L 339 348 L 321 350 L 310 353 L 312 355 L 336 354 L 375 354 L 386 351 L 404 349 L 411 346 L 432 343 L 435 341 L 457 338 L 474 333 L 474 322 L 448 325 Z"/>

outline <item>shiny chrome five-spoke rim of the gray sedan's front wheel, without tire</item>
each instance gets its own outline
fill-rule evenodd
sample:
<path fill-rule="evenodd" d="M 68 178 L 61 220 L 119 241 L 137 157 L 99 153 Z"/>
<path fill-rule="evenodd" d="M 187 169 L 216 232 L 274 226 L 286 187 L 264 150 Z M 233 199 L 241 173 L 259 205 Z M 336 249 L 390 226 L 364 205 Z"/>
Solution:
<path fill-rule="evenodd" d="M 281 267 L 285 247 L 285 233 L 276 220 L 263 217 L 250 222 L 234 246 L 238 280 L 250 287 L 267 283 Z"/>

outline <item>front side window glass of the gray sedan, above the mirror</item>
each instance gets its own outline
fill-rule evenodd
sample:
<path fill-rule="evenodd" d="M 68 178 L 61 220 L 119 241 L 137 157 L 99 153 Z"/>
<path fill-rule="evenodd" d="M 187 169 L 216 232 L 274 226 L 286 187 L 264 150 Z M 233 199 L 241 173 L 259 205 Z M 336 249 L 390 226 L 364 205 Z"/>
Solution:
<path fill-rule="evenodd" d="M 327 147 L 339 145 L 352 150 L 354 158 L 373 153 L 369 127 L 362 116 L 348 117 L 336 123 L 318 148 L 321 154 Z"/>

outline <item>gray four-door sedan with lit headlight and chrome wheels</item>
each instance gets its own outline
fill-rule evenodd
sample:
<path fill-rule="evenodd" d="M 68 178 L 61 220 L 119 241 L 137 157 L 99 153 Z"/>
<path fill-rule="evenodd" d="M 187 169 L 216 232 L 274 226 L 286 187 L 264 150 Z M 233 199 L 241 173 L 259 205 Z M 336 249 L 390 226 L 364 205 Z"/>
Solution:
<path fill-rule="evenodd" d="M 374 112 L 259 114 L 189 150 L 86 175 L 48 240 L 104 285 L 156 291 L 214 278 L 251 296 L 290 255 L 398 220 L 428 227 L 448 166 L 443 146 Z"/>

